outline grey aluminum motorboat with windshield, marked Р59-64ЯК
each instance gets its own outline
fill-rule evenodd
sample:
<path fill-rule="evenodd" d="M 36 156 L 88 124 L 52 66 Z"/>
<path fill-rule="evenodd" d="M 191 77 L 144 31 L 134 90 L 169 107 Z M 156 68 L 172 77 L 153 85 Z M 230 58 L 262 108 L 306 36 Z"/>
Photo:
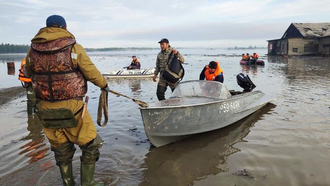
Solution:
<path fill-rule="evenodd" d="M 229 91 L 217 81 L 191 80 L 179 83 L 169 99 L 140 111 L 148 139 L 159 147 L 226 127 L 272 101 L 262 101 L 264 95 L 260 90 Z"/>

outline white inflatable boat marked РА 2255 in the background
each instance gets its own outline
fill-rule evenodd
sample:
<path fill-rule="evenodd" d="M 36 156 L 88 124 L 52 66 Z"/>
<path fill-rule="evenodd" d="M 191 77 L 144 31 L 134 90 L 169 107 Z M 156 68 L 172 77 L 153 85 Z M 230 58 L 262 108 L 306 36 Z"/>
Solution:
<path fill-rule="evenodd" d="M 147 78 L 153 77 L 155 72 L 153 69 L 135 69 L 135 70 L 126 70 L 126 69 L 115 69 L 111 72 L 103 73 L 106 78 Z"/>

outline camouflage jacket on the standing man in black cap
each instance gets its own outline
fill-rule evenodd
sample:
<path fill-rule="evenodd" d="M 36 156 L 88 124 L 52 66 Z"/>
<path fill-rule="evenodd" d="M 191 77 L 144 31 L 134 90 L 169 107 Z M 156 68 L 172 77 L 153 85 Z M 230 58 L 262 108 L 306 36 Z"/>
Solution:
<path fill-rule="evenodd" d="M 172 52 L 173 48 L 169 47 L 168 49 L 166 49 L 165 51 L 160 51 L 157 55 L 157 59 L 156 59 L 156 70 L 154 72 L 154 74 L 158 75 L 158 73 L 160 72 L 160 75 L 162 75 L 162 72 L 164 71 L 164 68 L 166 67 L 166 64 L 168 63 L 169 60 L 169 55 Z M 178 52 L 177 54 L 180 63 L 184 63 L 184 58 L 183 56 Z M 172 60 L 174 57 L 174 55 L 172 55 L 171 59 Z"/>

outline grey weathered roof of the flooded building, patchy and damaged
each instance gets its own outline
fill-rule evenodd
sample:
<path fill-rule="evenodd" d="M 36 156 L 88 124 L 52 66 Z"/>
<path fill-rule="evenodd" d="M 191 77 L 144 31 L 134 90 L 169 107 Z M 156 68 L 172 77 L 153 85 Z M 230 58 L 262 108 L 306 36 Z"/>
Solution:
<path fill-rule="evenodd" d="M 303 37 L 326 37 L 330 36 L 330 23 L 292 23 Z"/>

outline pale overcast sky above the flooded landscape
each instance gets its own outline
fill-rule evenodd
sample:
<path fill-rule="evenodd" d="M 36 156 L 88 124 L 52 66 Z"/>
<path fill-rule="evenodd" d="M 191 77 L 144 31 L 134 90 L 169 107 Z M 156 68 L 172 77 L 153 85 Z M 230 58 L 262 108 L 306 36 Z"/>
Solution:
<path fill-rule="evenodd" d="M 84 47 L 267 46 L 291 22 L 330 22 L 330 0 L 0 0 L 0 43 L 30 44 L 48 16 L 61 15 Z"/>

